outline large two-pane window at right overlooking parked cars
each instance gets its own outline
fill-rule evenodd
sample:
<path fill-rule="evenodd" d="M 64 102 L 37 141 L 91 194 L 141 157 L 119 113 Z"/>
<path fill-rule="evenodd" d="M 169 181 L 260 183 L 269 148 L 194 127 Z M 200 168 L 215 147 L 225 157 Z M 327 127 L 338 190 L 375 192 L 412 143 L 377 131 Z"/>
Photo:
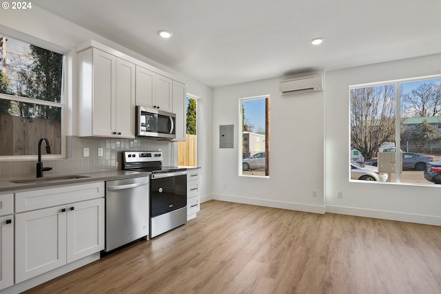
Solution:
<path fill-rule="evenodd" d="M 351 154 L 363 163 L 351 180 L 369 172 L 387 182 L 432 185 L 428 162 L 441 159 L 441 77 L 350 88 Z M 373 175 L 373 176 L 376 176 Z"/>

